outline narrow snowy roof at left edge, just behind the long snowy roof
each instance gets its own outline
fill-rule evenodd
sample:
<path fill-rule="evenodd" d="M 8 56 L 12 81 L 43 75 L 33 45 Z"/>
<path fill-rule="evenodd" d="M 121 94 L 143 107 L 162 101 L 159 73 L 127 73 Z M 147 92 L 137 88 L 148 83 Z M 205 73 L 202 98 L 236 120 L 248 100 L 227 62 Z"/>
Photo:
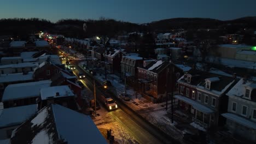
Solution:
<path fill-rule="evenodd" d="M 34 72 L 28 72 L 28 74 L 16 73 L 16 74 L 4 74 L 0 75 L 0 82 L 14 82 L 14 81 L 27 81 L 33 80 Z"/>

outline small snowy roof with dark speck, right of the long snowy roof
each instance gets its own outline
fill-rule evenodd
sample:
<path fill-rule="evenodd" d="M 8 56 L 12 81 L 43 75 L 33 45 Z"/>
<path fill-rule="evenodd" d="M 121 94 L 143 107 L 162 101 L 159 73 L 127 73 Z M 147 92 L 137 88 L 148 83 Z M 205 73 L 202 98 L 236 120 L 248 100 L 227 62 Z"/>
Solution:
<path fill-rule="evenodd" d="M 74 93 L 68 86 L 54 86 L 41 88 L 40 95 L 41 99 L 45 100 L 48 98 L 70 97 L 74 96 Z"/>

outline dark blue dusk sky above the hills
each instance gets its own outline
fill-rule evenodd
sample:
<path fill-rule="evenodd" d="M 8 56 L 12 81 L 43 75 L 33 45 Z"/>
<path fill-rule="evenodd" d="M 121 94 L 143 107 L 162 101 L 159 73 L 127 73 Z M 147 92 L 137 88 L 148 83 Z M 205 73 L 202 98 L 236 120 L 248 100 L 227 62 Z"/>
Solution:
<path fill-rule="evenodd" d="M 38 17 L 60 19 L 98 19 L 99 17 L 134 23 L 175 17 L 208 17 L 232 20 L 256 16 L 256 0 L 2 0 L 0 19 Z"/>

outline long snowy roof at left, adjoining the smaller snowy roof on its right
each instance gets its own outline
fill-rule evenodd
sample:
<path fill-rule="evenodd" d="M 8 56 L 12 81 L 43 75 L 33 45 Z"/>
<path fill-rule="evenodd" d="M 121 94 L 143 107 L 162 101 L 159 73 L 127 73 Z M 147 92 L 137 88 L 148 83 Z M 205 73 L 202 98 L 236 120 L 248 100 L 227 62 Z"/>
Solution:
<path fill-rule="evenodd" d="M 2 101 L 39 97 L 40 89 L 50 85 L 50 80 L 8 85 L 4 89 Z"/>

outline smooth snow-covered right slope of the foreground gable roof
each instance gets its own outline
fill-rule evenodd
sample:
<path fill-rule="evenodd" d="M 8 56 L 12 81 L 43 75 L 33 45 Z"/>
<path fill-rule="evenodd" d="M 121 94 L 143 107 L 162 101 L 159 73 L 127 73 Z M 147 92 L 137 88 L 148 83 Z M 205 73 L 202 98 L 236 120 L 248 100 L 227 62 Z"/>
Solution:
<path fill-rule="evenodd" d="M 52 107 L 59 137 L 67 143 L 107 143 L 90 116 L 56 104 Z"/>

